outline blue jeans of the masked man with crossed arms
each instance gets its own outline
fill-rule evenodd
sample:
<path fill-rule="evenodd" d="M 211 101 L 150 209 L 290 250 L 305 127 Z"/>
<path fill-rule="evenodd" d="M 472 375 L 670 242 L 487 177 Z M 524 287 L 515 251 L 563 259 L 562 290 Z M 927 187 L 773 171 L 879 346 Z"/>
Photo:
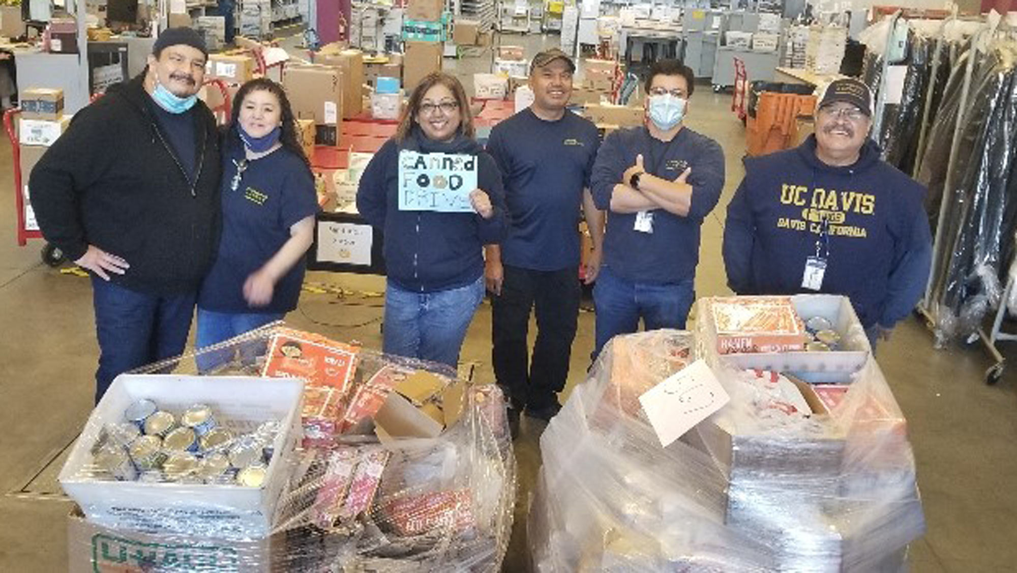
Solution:
<path fill-rule="evenodd" d="M 597 309 L 596 347 L 593 359 L 611 337 L 634 333 L 643 319 L 646 330 L 684 329 L 696 298 L 692 278 L 679 283 L 636 283 L 618 277 L 607 266 L 600 268 L 593 287 Z"/>

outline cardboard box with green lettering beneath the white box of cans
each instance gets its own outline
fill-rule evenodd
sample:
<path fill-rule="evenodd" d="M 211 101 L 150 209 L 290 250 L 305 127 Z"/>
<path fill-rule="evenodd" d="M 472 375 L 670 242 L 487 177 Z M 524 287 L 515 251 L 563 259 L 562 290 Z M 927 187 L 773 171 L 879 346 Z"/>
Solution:
<path fill-rule="evenodd" d="M 69 573 L 146 571 L 156 563 L 173 564 L 171 567 L 181 570 L 200 567 L 270 573 L 282 559 L 273 556 L 285 552 L 285 533 L 243 540 L 214 539 L 104 527 L 85 519 L 77 506 L 67 516 Z"/>

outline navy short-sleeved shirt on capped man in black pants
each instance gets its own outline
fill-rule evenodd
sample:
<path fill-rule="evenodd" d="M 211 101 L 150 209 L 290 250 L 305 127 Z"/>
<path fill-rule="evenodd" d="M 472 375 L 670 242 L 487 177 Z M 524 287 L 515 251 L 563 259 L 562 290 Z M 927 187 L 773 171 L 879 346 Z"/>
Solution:
<path fill-rule="evenodd" d="M 545 121 L 527 108 L 494 126 L 487 153 L 505 186 L 503 264 L 534 271 L 579 265 L 579 210 L 599 147 L 597 127 L 571 112 Z"/>

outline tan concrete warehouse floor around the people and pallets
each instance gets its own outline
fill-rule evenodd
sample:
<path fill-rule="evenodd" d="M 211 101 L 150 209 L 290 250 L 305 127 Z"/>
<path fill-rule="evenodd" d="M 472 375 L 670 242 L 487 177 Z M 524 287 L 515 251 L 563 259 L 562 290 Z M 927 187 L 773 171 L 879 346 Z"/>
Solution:
<path fill-rule="evenodd" d="M 531 55 L 557 37 L 506 37 Z M 464 78 L 487 71 L 489 55 L 446 68 Z M 464 81 L 472 91 L 472 81 Z M 727 155 L 727 184 L 721 205 L 703 229 L 697 276 L 700 295 L 729 293 L 720 257 L 723 214 L 739 182 L 743 128 L 728 110 L 729 96 L 698 85 L 687 124 L 717 139 Z M 98 349 L 88 282 L 40 264 L 41 241 L 18 247 L 10 148 L 0 141 L 0 572 L 66 570 L 65 518 L 70 504 L 55 482 L 60 453 L 74 439 L 92 408 Z M 288 321 L 297 328 L 340 340 L 380 347 L 378 324 L 383 282 L 378 278 L 311 273 L 312 283 L 342 286 L 366 295 L 305 293 Z M 593 346 L 593 316 L 582 313 L 574 345 L 571 388 L 582 382 Z M 1014 346 L 1017 347 L 1017 346 Z M 1009 350 L 1009 349 L 1007 349 Z M 1013 355 L 1013 352 L 1009 352 Z M 479 364 L 476 376 L 492 380 L 490 307 L 478 311 L 463 351 Z M 911 547 L 912 571 L 974 573 L 1017 571 L 1017 400 L 1010 370 L 995 387 L 983 383 L 991 364 L 972 346 L 935 350 L 932 337 L 914 319 L 880 346 L 879 360 L 909 422 L 924 501 L 928 532 Z M 524 417 L 516 451 L 520 489 L 505 571 L 525 571 L 525 516 L 540 463 L 541 424 Z M 85 551 L 85 548 L 79 548 Z"/>

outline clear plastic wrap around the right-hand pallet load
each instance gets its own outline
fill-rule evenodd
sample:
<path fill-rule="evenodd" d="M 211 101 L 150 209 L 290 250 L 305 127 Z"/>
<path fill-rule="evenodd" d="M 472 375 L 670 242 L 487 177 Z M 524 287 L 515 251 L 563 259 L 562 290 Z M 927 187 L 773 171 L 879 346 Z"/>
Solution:
<path fill-rule="evenodd" d="M 730 402 L 662 448 L 638 396 L 693 348 L 679 331 L 615 337 L 550 421 L 528 523 L 534 570 L 905 570 L 924 519 L 876 362 L 792 399 L 791 379 L 708 353 Z"/>

